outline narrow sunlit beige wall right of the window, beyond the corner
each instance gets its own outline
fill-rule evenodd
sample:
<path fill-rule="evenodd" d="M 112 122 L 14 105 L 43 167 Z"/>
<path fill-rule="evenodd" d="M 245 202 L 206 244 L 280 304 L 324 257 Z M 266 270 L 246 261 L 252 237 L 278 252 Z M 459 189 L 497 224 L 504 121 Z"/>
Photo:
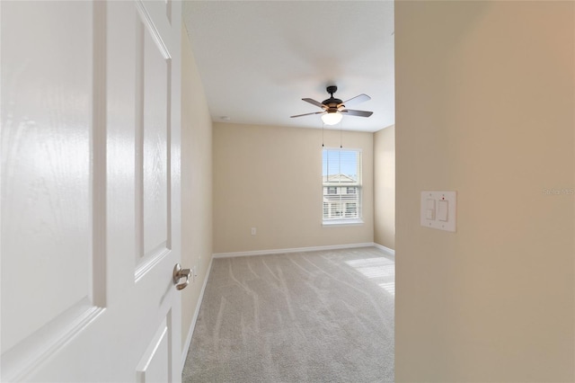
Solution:
<path fill-rule="evenodd" d="M 395 127 L 374 133 L 374 242 L 395 249 Z"/>

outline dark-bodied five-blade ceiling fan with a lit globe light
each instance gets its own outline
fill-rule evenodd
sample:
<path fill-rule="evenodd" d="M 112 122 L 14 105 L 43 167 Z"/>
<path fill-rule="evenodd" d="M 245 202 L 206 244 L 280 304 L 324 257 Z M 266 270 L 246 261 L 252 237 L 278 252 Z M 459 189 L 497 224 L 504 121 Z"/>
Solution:
<path fill-rule="evenodd" d="M 322 111 L 296 114 L 295 116 L 289 116 L 289 117 L 294 118 L 294 117 L 309 116 L 311 114 L 323 114 L 322 116 L 323 123 L 325 123 L 326 125 L 335 125 L 341 121 L 343 113 L 349 114 L 350 116 L 358 116 L 358 117 L 369 117 L 373 114 L 373 111 L 355 111 L 353 109 L 346 108 L 346 106 L 348 105 L 354 105 L 359 102 L 365 102 L 371 100 L 371 97 L 369 97 L 367 94 L 359 94 L 353 98 L 350 98 L 348 101 L 342 102 L 339 98 L 333 97 L 333 94 L 338 90 L 337 86 L 335 85 L 328 86 L 326 90 L 331 97 L 328 98 L 327 100 L 323 100 L 323 102 L 317 102 L 311 98 L 302 99 L 305 102 L 309 102 L 314 104 L 315 106 L 319 106 L 320 108 L 322 108 Z"/>

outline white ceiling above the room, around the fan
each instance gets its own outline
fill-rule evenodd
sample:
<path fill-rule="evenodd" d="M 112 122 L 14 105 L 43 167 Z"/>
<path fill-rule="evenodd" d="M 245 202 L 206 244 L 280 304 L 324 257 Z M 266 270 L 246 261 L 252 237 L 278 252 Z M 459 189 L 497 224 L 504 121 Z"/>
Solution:
<path fill-rule="evenodd" d="M 341 129 L 377 131 L 393 125 L 393 1 L 187 1 L 190 35 L 212 120 L 322 128 L 319 111 L 302 98 L 371 100 L 351 109 Z M 340 129 L 340 125 L 335 128 Z"/>

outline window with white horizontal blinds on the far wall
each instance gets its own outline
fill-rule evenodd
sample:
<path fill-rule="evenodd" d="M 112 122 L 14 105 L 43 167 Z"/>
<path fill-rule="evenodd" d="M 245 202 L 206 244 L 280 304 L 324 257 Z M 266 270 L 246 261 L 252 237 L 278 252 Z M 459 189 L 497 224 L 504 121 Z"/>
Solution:
<path fill-rule="evenodd" d="M 323 224 L 361 223 L 361 151 L 323 149 Z"/>

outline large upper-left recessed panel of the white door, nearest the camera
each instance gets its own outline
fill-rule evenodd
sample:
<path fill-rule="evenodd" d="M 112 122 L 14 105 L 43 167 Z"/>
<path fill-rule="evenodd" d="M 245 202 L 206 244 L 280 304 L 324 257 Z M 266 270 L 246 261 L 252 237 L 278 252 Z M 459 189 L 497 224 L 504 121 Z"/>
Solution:
<path fill-rule="evenodd" d="M 62 330 L 91 310 L 94 278 L 84 92 L 92 7 L 8 2 L 2 10 L 3 31 L 18 36 L 13 44 L 3 33 L 1 44 L 10 58 L 2 66 L 2 249 L 13 253 L 2 258 L 4 353 L 34 338 L 56 343 L 56 332 L 42 329 Z"/>

